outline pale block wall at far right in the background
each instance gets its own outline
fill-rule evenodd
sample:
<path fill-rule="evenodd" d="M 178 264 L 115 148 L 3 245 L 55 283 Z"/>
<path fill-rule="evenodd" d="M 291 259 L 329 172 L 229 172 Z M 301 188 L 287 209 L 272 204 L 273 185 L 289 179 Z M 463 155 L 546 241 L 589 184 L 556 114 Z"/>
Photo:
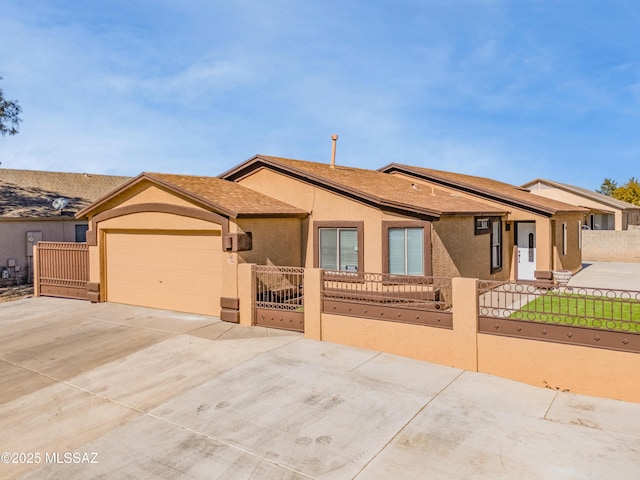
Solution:
<path fill-rule="evenodd" d="M 582 258 L 587 262 L 640 262 L 640 231 L 583 230 Z"/>

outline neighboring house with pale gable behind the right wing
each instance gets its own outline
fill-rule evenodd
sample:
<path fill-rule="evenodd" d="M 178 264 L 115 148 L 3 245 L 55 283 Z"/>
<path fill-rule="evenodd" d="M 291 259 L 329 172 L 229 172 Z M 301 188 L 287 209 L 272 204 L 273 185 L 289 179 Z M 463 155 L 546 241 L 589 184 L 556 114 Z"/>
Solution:
<path fill-rule="evenodd" d="M 586 188 L 536 178 L 522 185 L 531 193 L 588 209 L 584 224 L 591 230 L 640 230 L 640 206 Z"/>

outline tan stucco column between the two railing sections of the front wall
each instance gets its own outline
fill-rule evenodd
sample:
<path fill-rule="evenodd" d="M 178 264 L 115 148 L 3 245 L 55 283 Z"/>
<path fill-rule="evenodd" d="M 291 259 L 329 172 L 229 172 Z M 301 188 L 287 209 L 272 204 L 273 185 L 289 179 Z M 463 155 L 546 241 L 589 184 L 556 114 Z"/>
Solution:
<path fill-rule="evenodd" d="M 454 278 L 453 366 L 478 371 L 478 280 Z"/>

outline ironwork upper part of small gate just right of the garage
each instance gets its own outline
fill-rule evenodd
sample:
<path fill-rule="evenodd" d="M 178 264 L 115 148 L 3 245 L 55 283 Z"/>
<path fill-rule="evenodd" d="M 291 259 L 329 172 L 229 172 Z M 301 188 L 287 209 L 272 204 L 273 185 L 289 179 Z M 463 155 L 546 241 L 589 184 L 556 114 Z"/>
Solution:
<path fill-rule="evenodd" d="M 257 308 L 302 311 L 304 268 L 254 265 Z"/>

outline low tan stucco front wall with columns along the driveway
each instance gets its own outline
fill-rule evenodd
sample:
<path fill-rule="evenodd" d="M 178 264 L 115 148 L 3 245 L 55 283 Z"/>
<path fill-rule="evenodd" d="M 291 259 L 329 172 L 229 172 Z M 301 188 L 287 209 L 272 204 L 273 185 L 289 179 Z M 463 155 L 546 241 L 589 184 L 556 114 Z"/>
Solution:
<path fill-rule="evenodd" d="M 244 275 L 250 278 L 249 265 Z M 306 269 L 307 338 L 489 373 L 539 387 L 640 402 L 640 382 L 629 381 L 640 371 L 640 354 L 479 333 L 475 279 L 452 280 L 452 329 L 325 313 L 320 285 L 321 271 Z M 250 302 L 247 297 L 245 305 Z M 244 318 L 249 325 L 250 315 Z"/>

